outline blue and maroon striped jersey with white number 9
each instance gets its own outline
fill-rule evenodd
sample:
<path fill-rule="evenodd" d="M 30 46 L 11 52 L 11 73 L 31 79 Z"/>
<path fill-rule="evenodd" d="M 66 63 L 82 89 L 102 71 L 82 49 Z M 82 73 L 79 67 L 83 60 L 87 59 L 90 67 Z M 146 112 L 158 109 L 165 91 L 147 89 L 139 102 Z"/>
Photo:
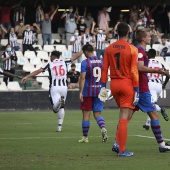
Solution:
<path fill-rule="evenodd" d="M 91 56 L 81 63 L 81 73 L 86 72 L 83 97 L 97 97 L 101 89 L 103 59 Z"/>

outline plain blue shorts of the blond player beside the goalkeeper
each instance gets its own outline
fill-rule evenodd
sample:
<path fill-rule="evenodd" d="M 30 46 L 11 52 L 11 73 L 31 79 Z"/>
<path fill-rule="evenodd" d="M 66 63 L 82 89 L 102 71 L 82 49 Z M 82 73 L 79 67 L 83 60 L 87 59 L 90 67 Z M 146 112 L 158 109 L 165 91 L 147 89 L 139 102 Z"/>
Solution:
<path fill-rule="evenodd" d="M 156 110 L 155 104 L 151 101 L 150 92 L 140 92 L 139 93 L 139 109 L 145 113 L 152 112 Z"/>

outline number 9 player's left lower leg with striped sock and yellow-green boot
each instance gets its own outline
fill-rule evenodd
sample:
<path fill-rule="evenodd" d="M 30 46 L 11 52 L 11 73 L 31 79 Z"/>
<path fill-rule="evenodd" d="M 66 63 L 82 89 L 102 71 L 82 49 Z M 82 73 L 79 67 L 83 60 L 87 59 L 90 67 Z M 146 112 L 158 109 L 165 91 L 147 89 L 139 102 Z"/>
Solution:
<path fill-rule="evenodd" d="M 86 111 L 86 110 L 82 110 L 83 113 L 83 120 L 82 120 L 82 133 L 83 133 L 83 137 L 82 139 L 80 139 L 78 142 L 79 143 L 88 143 L 88 132 L 89 132 L 89 128 L 90 128 L 90 114 L 91 111 Z"/>

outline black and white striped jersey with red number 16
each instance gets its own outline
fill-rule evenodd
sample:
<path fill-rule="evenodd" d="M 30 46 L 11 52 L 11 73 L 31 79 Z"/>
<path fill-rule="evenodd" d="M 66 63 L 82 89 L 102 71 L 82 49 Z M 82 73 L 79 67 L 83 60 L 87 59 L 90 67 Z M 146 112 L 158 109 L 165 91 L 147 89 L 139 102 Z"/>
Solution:
<path fill-rule="evenodd" d="M 44 64 L 41 68 L 49 72 L 50 87 L 67 86 L 67 66 L 71 60 L 55 59 L 52 62 Z"/>

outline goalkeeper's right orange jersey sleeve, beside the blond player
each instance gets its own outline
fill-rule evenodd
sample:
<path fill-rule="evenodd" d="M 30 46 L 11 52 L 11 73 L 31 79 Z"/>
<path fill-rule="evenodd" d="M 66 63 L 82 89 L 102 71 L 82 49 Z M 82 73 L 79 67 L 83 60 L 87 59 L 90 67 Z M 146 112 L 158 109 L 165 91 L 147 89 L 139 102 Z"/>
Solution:
<path fill-rule="evenodd" d="M 137 60 L 139 61 L 139 54 L 140 53 L 138 54 L 138 50 L 137 50 L 136 47 L 130 46 L 130 48 L 131 48 L 131 53 L 132 53 L 131 76 L 132 76 L 133 87 L 139 87 L 139 72 L 138 72 Z M 142 59 L 140 61 L 143 61 L 143 60 L 144 59 Z"/>

